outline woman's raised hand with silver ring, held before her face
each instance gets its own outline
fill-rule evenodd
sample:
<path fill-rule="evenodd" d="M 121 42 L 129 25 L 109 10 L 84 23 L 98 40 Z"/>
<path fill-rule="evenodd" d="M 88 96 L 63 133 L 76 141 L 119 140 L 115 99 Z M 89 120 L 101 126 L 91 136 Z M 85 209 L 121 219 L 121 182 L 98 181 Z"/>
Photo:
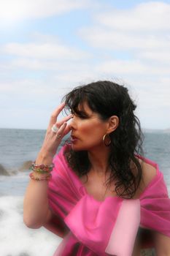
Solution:
<path fill-rule="evenodd" d="M 66 121 L 69 121 L 69 119 L 72 118 L 72 114 L 64 117 L 60 121 L 57 120 L 58 115 L 61 113 L 61 110 L 63 110 L 64 107 L 65 103 L 63 102 L 53 111 L 50 117 L 50 123 L 47 127 L 45 140 L 42 144 L 41 153 L 49 155 L 50 157 L 55 155 L 57 148 L 61 143 L 61 139 L 71 130 L 69 124 L 67 124 Z M 57 132 L 53 132 L 51 129 L 54 124 L 55 127 L 58 128 Z"/>

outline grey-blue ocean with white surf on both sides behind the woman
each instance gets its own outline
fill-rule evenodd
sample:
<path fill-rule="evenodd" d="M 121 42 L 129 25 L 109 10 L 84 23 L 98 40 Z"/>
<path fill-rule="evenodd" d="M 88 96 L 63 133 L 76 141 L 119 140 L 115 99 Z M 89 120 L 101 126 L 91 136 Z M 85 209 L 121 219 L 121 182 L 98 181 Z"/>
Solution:
<path fill-rule="evenodd" d="M 36 159 L 44 136 L 45 130 L 0 129 L 1 256 L 53 256 L 62 241 L 44 227 L 30 229 L 23 223 L 23 195 L 31 172 L 27 166 Z M 145 157 L 158 163 L 170 195 L 170 133 L 144 132 L 143 146 Z"/>

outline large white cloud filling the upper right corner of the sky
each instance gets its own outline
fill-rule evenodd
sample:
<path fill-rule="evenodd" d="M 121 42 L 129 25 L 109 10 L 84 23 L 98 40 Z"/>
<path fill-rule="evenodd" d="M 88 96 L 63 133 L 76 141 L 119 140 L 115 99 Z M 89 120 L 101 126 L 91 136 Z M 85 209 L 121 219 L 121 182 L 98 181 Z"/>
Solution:
<path fill-rule="evenodd" d="M 109 10 L 94 16 L 94 22 L 80 29 L 80 35 L 95 48 L 170 51 L 170 4 L 152 1 L 128 10 Z"/>

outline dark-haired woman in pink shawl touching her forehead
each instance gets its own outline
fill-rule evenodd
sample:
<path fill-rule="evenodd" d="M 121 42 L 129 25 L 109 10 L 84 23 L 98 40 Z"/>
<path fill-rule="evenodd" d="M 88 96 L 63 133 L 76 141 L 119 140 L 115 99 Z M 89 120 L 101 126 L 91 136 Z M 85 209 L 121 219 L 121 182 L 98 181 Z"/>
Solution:
<path fill-rule="evenodd" d="M 128 89 L 98 81 L 63 101 L 32 165 L 25 224 L 63 238 L 55 256 L 138 256 L 146 247 L 169 255 L 170 200 L 158 165 L 142 156 Z M 58 121 L 64 108 L 71 113 Z M 71 141 L 55 156 L 69 132 Z"/>

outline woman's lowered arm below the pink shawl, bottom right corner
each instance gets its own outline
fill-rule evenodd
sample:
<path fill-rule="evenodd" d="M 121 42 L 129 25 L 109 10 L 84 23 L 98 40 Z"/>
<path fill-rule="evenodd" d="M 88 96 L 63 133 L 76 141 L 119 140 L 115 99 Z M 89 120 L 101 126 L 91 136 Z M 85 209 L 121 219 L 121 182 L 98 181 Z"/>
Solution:
<path fill-rule="evenodd" d="M 157 256 L 170 256 L 170 237 L 155 232 L 155 251 Z"/>

